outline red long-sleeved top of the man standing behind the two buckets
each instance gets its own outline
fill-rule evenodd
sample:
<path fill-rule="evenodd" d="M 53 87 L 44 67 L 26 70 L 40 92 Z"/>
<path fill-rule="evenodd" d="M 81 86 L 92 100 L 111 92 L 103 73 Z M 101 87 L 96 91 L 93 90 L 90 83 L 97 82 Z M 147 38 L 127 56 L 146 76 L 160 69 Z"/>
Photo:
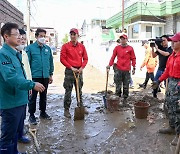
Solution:
<path fill-rule="evenodd" d="M 134 49 L 131 46 L 121 46 L 118 45 L 113 50 L 113 55 L 109 62 L 109 65 L 114 64 L 114 59 L 117 56 L 117 68 L 122 71 L 130 71 L 131 64 L 133 67 L 136 65 L 136 56 L 134 54 Z"/>

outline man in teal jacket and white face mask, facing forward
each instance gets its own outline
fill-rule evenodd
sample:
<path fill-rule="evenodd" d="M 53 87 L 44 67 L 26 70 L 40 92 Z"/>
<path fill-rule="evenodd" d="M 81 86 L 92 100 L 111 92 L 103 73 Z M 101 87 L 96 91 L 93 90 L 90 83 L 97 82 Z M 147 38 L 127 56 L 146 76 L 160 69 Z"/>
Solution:
<path fill-rule="evenodd" d="M 51 84 L 53 79 L 53 57 L 49 46 L 46 43 L 46 31 L 44 29 L 38 28 L 35 33 L 37 41 L 29 46 L 27 46 L 27 54 L 29 58 L 29 64 L 32 73 L 32 80 L 35 82 L 40 82 L 44 85 L 45 90 L 40 93 L 39 100 L 39 110 L 40 118 L 50 120 L 51 117 L 46 113 L 46 101 L 47 101 L 47 88 L 48 84 Z M 36 98 L 37 91 L 32 91 L 32 97 L 29 102 L 29 122 L 36 125 L 36 117 L 34 113 L 36 112 Z"/>

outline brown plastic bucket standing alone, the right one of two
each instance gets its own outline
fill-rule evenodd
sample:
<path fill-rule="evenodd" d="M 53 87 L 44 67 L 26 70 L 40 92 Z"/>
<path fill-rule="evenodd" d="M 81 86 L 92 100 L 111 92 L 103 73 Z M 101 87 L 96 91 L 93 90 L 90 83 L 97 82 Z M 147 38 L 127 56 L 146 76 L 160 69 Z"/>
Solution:
<path fill-rule="evenodd" d="M 136 102 L 134 104 L 135 117 L 138 119 L 145 119 L 148 116 L 148 109 L 150 107 L 149 103 L 146 102 Z"/>

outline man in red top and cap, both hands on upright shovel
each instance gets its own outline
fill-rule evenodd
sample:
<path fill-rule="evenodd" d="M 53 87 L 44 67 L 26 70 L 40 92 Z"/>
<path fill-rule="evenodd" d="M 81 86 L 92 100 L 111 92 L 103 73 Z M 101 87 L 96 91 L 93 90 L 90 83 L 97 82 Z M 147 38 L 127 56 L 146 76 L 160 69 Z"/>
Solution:
<path fill-rule="evenodd" d="M 64 116 L 71 118 L 69 113 L 69 108 L 71 105 L 71 93 L 73 84 L 75 84 L 74 74 L 79 73 L 79 94 L 80 94 L 80 105 L 82 103 L 82 86 L 83 86 L 83 77 L 82 71 L 85 68 L 88 62 L 88 56 L 86 49 L 82 43 L 78 42 L 79 32 L 77 29 L 72 28 L 70 30 L 71 41 L 64 44 L 61 49 L 60 61 L 66 67 L 65 69 L 65 78 L 64 78 Z M 87 113 L 87 111 L 86 111 Z"/>

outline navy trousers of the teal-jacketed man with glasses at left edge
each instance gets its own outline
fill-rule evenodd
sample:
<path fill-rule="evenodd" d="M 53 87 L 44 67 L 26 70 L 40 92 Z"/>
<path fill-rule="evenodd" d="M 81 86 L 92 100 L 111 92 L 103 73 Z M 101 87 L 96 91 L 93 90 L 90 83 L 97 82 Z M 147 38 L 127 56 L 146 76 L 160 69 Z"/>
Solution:
<path fill-rule="evenodd" d="M 26 105 L 0 110 L 1 138 L 0 154 L 17 154 L 18 133 L 24 127 Z"/>

